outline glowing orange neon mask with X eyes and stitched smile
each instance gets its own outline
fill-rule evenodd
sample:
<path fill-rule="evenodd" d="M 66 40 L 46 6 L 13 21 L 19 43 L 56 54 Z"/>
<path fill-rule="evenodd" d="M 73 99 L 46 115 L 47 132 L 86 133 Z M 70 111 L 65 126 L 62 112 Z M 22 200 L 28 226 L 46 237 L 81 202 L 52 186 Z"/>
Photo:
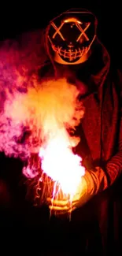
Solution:
<path fill-rule="evenodd" d="M 75 64 L 91 49 L 96 36 L 96 18 L 87 11 L 69 10 L 50 21 L 48 38 L 61 61 Z"/>

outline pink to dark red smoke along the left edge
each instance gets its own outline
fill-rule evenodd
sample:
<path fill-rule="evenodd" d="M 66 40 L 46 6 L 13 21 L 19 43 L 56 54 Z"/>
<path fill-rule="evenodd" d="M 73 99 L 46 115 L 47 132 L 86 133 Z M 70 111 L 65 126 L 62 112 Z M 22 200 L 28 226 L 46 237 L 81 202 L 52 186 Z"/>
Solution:
<path fill-rule="evenodd" d="M 33 87 L 33 77 L 45 61 L 43 31 L 27 32 L 15 40 L 8 39 L 1 42 L 0 151 L 4 151 L 8 156 L 28 157 L 28 146 L 24 143 L 24 139 L 31 131 L 28 131 L 28 127 L 24 124 L 15 124 L 11 118 L 6 117 L 5 102 L 8 97 L 13 101 L 15 93 L 26 94 L 28 83 Z"/>

